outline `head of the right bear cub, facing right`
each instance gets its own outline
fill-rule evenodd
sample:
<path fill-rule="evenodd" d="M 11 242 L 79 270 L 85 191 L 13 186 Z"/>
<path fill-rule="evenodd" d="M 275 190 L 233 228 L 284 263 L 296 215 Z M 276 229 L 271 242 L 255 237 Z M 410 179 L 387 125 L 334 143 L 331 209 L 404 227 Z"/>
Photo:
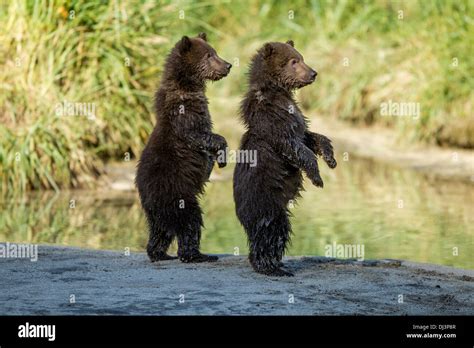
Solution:
<path fill-rule="evenodd" d="M 286 89 L 302 88 L 314 82 L 318 73 L 304 62 L 292 40 L 268 42 L 257 53 L 251 75 Z M 257 62 L 258 61 L 258 62 Z M 263 75 L 263 76 L 262 76 Z"/>

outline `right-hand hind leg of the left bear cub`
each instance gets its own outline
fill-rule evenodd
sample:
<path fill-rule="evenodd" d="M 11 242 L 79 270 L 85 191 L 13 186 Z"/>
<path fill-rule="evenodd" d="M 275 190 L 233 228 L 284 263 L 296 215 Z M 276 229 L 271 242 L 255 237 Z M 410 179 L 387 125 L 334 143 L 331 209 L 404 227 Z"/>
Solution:
<path fill-rule="evenodd" d="M 185 263 L 214 262 L 217 256 L 201 254 L 199 251 L 201 242 L 202 212 L 197 203 L 186 207 L 186 212 L 181 221 L 182 227 L 177 230 L 178 257 Z"/>

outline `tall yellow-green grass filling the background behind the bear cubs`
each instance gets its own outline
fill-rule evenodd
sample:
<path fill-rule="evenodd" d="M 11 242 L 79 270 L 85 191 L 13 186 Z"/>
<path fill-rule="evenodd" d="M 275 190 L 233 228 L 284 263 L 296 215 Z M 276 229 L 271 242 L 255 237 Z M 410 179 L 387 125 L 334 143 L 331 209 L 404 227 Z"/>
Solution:
<path fill-rule="evenodd" d="M 235 66 L 211 97 L 238 100 L 255 50 L 291 38 L 320 72 L 300 93 L 308 114 L 473 148 L 473 11 L 469 0 L 0 0 L 0 191 L 87 186 L 104 160 L 137 156 L 166 53 L 199 31 Z M 381 117 L 388 100 L 421 115 Z M 97 118 L 58 115 L 64 101 L 94 103 Z"/>

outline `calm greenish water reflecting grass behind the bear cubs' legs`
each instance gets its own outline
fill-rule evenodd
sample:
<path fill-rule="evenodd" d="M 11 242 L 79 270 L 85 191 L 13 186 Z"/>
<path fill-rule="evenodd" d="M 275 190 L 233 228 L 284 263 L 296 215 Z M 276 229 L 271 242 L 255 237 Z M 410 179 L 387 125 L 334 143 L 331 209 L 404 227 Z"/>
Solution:
<path fill-rule="evenodd" d="M 474 269 L 474 186 L 429 181 L 360 159 L 341 161 L 334 171 L 321 167 L 325 188 L 306 182 L 307 191 L 291 208 L 289 255 L 325 255 L 326 246 L 336 242 L 363 245 L 366 259 Z M 132 251 L 146 245 L 145 218 L 134 192 L 36 192 L 1 206 L 0 241 Z M 202 206 L 202 250 L 246 254 L 232 182 L 208 184 Z"/>

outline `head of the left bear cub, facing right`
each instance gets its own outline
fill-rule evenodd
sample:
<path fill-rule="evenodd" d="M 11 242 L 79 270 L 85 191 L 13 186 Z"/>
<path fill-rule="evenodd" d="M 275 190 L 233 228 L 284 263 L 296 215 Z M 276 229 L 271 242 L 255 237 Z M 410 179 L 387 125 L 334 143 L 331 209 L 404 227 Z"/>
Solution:
<path fill-rule="evenodd" d="M 220 80 L 229 74 L 232 67 L 207 43 L 205 33 L 195 38 L 183 36 L 175 48 L 187 73 L 195 74 L 201 80 Z"/>

